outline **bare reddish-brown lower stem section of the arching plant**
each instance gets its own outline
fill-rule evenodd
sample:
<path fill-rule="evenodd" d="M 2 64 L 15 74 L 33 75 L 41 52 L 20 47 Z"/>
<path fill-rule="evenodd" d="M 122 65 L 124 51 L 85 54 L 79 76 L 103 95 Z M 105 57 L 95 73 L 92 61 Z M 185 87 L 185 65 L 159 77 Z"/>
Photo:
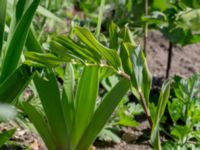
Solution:
<path fill-rule="evenodd" d="M 140 95 L 140 100 L 141 100 L 141 102 L 142 102 L 142 106 L 143 106 L 143 108 L 144 108 L 144 111 L 145 111 L 147 120 L 148 120 L 148 122 L 149 122 L 150 127 L 152 128 L 153 122 L 152 122 L 152 120 L 151 120 L 151 113 L 150 113 L 149 108 L 147 107 L 145 97 L 144 97 L 144 95 L 143 95 L 142 92 L 139 92 L 139 95 Z"/>

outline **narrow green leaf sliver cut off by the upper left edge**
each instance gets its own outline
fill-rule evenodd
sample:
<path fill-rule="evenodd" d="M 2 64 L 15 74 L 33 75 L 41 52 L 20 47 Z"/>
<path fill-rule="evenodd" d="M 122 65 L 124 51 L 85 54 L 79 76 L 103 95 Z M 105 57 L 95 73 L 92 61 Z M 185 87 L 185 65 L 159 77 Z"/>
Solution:
<path fill-rule="evenodd" d="M 3 48 L 6 7 L 7 7 L 7 0 L 0 0 L 0 56 Z"/>

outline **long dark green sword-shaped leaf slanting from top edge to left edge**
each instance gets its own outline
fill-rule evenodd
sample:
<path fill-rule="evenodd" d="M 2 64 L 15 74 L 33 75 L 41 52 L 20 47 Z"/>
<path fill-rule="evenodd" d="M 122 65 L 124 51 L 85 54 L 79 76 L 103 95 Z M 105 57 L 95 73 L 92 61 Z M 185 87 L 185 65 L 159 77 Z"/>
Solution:
<path fill-rule="evenodd" d="M 40 0 L 34 0 L 17 24 L 15 32 L 8 43 L 6 55 L 3 60 L 0 82 L 4 81 L 17 68 L 30 23 L 39 2 Z"/>

